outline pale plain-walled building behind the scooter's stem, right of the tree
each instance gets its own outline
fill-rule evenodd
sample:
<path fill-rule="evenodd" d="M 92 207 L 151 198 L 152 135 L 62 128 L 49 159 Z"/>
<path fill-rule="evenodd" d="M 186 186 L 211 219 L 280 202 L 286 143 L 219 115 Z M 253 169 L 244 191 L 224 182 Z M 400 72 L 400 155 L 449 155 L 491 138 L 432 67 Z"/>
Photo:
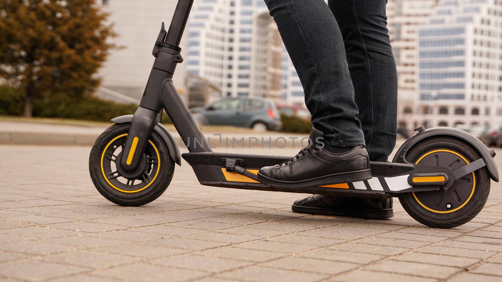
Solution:
<path fill-rule="evenodd" d="M 169 27 L 176 3 L 176 0 L 96 0 L 101 10 L 109 13 L 108 23 L 114 25 L 117 37 L 110 41 L 121 47 L 110 51 L 98 73 L 102 87 L 141 99 L 155 60 L 152 55 L 155 40 L 162 22 L 166 29 Z M 180 44 L 183 50 L 186 37 Z M 178 64 L 173 81 L 182 96 L 186 95 L 185 74 L 185 64 Z"/>

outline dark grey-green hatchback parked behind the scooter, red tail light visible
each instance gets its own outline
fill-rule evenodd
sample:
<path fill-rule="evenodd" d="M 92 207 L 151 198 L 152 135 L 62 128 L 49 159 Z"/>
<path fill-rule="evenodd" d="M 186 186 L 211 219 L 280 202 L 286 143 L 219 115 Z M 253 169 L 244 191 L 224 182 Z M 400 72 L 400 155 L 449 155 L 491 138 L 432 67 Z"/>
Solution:
<path fill-rule="evenodd" d="M 264 98 L 225 98 L 191 109 L 199 124 L 232 125 L 256 131 L 280 130 L 281 116 L 275 103 Z"/>

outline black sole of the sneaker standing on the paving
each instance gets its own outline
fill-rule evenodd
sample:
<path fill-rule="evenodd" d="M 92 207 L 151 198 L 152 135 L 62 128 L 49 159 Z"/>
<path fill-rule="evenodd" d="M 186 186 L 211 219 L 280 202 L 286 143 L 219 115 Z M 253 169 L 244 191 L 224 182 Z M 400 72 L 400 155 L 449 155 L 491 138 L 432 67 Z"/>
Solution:
<path fill-rule="evenodd" d="M 297 213 L 307 213 L 316 215 L 331 215 L 331 216 L 345 216 L 357 217 L 364 219 L 386 219 L 394 216 L 393 209 L 380 209 L 380 210 L 366 210 L 366 209 L 323 209 L 313 207 L 295 206 L 291 210 Z"/>

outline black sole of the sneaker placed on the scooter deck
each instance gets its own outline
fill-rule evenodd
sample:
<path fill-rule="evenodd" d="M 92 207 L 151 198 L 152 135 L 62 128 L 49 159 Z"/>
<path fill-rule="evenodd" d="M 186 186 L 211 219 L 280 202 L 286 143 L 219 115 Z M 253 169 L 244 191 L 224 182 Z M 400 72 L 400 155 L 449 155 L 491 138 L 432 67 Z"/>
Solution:
<path fill-rule="evenodd" d="M 340 184 L 347 182 L 357 182 L 368 180 L 371 178 L 371 170 L 355 171 L 350 173 L 338 173 L 331 174 L 327 176 L 302 180 L 302 181 L 280 181 L 275 180 L 270 177 L 266 177 L 258 172 L 258 179 L 260 182 L 269 184 L 277 187 L 287 187 L 287 188 L 307 188 L 307 187 L 318 187 L 324 185 Z"/>

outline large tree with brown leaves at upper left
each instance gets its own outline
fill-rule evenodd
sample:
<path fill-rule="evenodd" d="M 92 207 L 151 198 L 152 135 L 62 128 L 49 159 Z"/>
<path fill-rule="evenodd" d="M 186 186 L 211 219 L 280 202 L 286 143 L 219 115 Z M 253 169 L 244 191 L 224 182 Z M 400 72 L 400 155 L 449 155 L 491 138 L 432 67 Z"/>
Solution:
<path fill-rule="evenodd" d="M 94 0 L 0 1 L 0 83 L 26 93 L 24 115 L 40 95 L 92 93 L 112 44 L 107 14 Z"/>

